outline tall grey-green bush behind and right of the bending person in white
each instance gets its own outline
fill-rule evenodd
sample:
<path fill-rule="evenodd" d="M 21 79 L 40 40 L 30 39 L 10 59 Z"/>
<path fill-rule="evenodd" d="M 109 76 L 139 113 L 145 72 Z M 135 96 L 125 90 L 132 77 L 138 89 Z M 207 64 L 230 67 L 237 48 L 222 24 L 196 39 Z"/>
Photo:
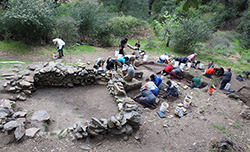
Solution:
<path fill-rule="evenodd" d="M 108 20 L 111 15 L 89 2 L 75 2 L 73 8 L 70 15 L 76 21 L 80 40 L 93 45 L 110 45 Z"/>

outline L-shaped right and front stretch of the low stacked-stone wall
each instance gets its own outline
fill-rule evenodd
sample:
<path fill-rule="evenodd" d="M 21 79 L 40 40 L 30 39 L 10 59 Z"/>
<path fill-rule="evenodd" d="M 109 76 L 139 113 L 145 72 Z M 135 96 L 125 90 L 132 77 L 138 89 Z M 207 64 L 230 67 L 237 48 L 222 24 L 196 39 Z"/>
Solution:
<path fill-rule="evenodd" d="M 76 122 L 73 127 L 67 128 L 62 136 L 69 133 L 73 139 L 82 139 L 106 133 L 131 135 L 134 129 L 139 129 L 141 113 L 135 101 L 127 97 L 122 81 L 119 74 L 112 72 L 112 79 L 107 86 L 110 94 L 116 99 L 119 114 L 109 119 L 92 117 L 90 122 Z"/>

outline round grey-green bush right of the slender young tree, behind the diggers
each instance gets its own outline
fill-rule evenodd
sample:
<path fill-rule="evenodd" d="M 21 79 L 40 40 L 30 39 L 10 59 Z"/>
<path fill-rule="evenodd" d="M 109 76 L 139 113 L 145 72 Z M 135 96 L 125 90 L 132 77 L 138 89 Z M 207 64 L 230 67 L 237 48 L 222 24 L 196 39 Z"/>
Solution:
<path fill-rule="evenodd" d="M 179 26 L 171 35 L 174 50 L 183 53 L 191 52 L 198 42 L 208 39 L 210 33 L 210 28 L 203 21 L 181 19 Z"/>

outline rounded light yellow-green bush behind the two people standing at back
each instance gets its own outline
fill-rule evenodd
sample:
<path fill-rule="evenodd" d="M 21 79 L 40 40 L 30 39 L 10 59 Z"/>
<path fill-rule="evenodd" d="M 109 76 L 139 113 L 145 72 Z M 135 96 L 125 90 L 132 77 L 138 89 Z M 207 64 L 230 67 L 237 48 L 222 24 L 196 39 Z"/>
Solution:
<path fill-rule="evenodd" d="M 138 27 L 141 22 L 132 16 L 117 16 L 109 20 L 111 30 L 115 36 L 128 36 L 136 35 L 138 32 Z"/>

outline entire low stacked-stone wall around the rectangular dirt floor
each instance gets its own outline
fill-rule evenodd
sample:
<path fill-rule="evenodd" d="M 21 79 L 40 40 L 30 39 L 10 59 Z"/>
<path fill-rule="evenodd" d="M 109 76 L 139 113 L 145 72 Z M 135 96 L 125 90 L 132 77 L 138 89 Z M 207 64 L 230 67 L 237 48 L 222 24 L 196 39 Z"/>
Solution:
<path fill-rule="evenodd" d="M 110 118 L 92 117 L 87 122 L 76 122 L 72 127 L 64 129 L 61 136 L 70 135 L 73 139 L 82 139 L 88 136 L 112 133 L 132 134 L 140 126 L 140 111 L 135 101 L 127 97 L 122 76 L 115 71 L 98 72 L 95 69 L 70 66 L 50 62 L 39 65 L 30 65 L 24 74 L 3 74 L 6 82 L 3 87 L 17 96 L 3 99 L 0 103 L 0 129 L 11 131 L 15 129 L 15 136 L 20 140 L 24 136 L 25 114 L 15 114 L 12 105 L 16 100 L 25 100 L 37 87 L 57 86 L 74 87 L 74 85 L 107 85 L 110 94 L 115 98 L 119 113 Z M 139 85 L 141 82 L 139 82 Z M 13 100 L 13 101 L 11 101 Z M 6 102 L 8 101 L 8 102 Z M 117 108 L 117 107 L 114 107 Z M 20 113 L 20 112 L 19 112 Z M 21 119 L 21 120 L 20 120 Z M 23 120 L 24 119 L 24 120 Z"/>

